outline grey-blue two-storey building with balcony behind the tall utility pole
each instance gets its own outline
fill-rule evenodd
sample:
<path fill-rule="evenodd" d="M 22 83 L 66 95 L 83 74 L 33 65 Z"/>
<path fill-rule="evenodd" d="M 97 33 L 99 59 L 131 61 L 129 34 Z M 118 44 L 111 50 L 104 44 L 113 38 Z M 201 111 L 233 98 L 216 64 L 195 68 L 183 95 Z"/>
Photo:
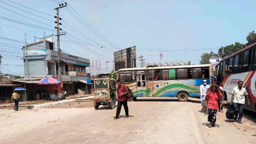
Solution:
<path fill-rule="evenodd" d="M 41 39 L 23 46 L 23 60 L 25 77 L 53 77 L 58 76 L 58 52 L 54 48 L 54 42 Z M 60 71 L 61 81 L 64 84 L 62 90 L 76 93 L 81 82 L 90 79 L 90 73 L 86 73 L 86 67 L 90 66 L 90 60 L 61 52 Z"/>

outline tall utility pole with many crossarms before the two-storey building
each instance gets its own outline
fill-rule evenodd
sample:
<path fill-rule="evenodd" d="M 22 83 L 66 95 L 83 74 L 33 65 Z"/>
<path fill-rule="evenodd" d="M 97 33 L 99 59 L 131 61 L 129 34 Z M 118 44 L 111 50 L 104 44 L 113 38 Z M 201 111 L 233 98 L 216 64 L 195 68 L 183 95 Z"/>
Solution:
<path fill-rule="evenodd" d="M 61 66 L 60 66 L 60 36 L 61 35 L 65 35 L 63 32 L 60 33 L 60 30 L 62 30 L 60 28 L 60 25 L 62 25 L 59 20 L 62 20 L 62 18 L 59 17 L 59 9 L 63 8 L 67 6 L 67 3 L 65 2 L 64 4 L 59 4 L 59 7 L 54 8 L 54 10 L 57 11 L 57 16 L 54 16 L 54 18 L 56 18 L 55 23 L 57 24 L 57 26 L 55 26 L 55 28 L 57 29 L 57 34 L 55 36 L 57 36 L 57 49 L 58 49 L 58 78 L 61 81 Z M 66 32 L 65 32 L 66 33 Z"/>

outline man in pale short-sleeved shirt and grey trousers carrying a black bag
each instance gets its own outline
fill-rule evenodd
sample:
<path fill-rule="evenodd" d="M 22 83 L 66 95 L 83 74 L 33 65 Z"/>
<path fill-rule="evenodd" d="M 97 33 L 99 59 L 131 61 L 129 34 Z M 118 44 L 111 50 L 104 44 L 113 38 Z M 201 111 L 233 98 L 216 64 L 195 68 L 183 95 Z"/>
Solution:
<path fill-rule="evenodd" d="M 242 124 L 242 117 L 243 117 L 243 111 L 244 111 L 244 103 L 245 103 L 245 97 L 247 99 L 248 105 L 250 105 L 250 101 L 248 98 L 248 93 L 245 88 L 243 88 L 243 81 L 238 81 L 238 86 L 234 87 L 232 90 L 232 98 L 230 101 L 230 105 L 232 105 L 232 102 L 234 103 L 234 110 L 235 110 L 235 117 L 234 120 L 237 120 L 238 123 Z M 239 116 L 238 116 L 239 113 Z"/>

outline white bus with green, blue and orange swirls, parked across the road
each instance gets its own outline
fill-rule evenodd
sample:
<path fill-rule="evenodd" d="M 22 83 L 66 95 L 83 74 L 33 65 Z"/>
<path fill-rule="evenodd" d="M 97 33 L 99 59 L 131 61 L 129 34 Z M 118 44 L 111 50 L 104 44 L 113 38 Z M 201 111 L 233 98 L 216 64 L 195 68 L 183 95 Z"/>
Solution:
<path fill-rule="evenodd" d="M 200 96 L 200 85 L 214 82 L 211 64 L 124 68 L 118 70 L 118 80 L 128 86 L 137 97 L 177 97 L 185 102 L 188 97 Z"/>

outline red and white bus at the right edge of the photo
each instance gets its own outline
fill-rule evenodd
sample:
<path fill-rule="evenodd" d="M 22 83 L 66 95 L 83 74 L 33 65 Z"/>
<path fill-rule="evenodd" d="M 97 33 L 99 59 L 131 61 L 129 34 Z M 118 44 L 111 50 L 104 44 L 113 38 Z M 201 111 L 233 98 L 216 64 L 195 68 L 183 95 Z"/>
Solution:
<path fill-rule="evenodd" d="M 256 42 L 222 59 L 218 68 L 218 81 L 227 101 L 231 101 L 232 89 L 242 80 L 250 98 L 250 105 L 246 100 L 244 108 L 256 112 Z"/>

